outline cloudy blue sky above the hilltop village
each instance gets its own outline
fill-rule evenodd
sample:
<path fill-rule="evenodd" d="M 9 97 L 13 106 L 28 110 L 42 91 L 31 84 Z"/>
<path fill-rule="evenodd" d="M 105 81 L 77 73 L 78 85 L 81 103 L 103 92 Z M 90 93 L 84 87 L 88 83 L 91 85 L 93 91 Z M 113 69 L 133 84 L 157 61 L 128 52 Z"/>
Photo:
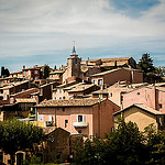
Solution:
<path fill-rule="evenodd" d="M 165 66 L 165 0 L 0 0 L 0 66 L 65 65 L 150 53 Z"/>

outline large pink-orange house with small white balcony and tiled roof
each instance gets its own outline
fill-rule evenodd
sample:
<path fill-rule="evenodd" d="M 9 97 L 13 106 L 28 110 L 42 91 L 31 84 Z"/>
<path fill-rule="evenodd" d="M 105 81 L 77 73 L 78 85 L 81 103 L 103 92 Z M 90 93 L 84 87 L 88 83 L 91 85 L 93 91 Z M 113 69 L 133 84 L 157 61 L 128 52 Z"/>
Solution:
<path fill-rule="evenodd" d="M 65 129 L 72 134 L 103 136 L 113 127 L 120 107 L 108 99 L 45 100 L 36 106 L 37 121 Z"/>

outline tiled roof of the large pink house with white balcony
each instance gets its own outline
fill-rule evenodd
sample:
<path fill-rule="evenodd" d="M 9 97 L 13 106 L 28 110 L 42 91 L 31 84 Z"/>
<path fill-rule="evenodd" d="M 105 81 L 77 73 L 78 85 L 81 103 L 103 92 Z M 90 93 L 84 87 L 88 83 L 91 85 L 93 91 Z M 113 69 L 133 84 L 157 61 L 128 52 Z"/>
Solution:
<path fill-rule="evenodd" d="M 36 107 L 84 107 L 84 106 L 94 106 L 106 99 L 68 99 L 68 100 L 44 100 Z"/>

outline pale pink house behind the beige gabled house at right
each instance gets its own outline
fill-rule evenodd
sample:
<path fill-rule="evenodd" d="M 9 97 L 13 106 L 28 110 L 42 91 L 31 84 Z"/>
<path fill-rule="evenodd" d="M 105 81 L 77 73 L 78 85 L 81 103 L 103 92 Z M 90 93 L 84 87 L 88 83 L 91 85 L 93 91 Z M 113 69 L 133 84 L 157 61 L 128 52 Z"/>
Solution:
<path fill-rule="evenodd" d="M 165 87 L 146 86 L 122 95 L 122 107 L 143 103 L 165 113 Z"/>

